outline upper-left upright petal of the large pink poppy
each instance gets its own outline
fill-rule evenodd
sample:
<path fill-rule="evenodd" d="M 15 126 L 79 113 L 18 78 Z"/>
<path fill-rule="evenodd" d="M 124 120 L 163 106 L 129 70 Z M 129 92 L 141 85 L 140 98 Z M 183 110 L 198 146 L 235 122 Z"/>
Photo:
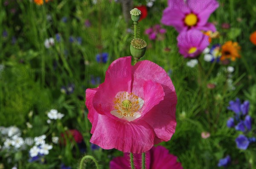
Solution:
<path fill-rule="evenodd" d="M 131 56 L 116 59 L 109 66 L 105 81 L 93 97 L 93 106 L 100 114 L 110 114 L 114 109 L 113 99 L 120 91 L 131 91 Z M 113 116 L 114 117 L 114 116 Z"/>

